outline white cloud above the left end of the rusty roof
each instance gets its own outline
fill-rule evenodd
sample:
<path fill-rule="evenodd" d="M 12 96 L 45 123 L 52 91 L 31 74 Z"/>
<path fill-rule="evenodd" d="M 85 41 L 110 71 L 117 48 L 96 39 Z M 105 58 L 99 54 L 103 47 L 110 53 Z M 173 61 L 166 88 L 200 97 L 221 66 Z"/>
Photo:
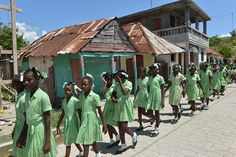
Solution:
<path fill-rule="evenodd" d="M 41 35 L 45 35 L 47 31 L 43 30 L 41 34 L 39 33 L 39 28 L 36 26 L 29 26 L 26 23 L 16 22 L 18 28 L 18 34 L 23 35 L 23 38 L 30 43 L 38 39 Z"/>

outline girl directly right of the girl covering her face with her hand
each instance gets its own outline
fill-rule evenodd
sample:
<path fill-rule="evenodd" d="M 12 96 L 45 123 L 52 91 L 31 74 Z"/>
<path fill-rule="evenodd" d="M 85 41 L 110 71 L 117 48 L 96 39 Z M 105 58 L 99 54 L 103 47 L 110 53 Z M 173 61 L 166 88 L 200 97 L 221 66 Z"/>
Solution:
<path fill-rule="evenodd" d="M 150 118 L 150 122 L 152 123 L 152 119 L 154 119 L 154 115 L 151 110 L 147 109 L 147 101 L 148 101 L 148 77 L 146 76 L 146 68 L 140 67 L 138 69 L 138 89 L 135 94 L 134 98 L 134 106 L 138 107 L 138 122 L 139 122 L 139 127 L 137 131 L 143 130 L 143 125 L 142 125 L 142 115 L 145 115 Z"/>

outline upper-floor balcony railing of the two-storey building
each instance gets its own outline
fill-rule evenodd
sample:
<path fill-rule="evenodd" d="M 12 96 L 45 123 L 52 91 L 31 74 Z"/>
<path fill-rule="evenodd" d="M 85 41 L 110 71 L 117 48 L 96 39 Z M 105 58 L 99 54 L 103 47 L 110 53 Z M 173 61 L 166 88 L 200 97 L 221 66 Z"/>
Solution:
<path fill-rule="evenodd" d="M 201 33 L 200 31 L 190 27 L 190 26 L 180 26 L 180 27 L 173 27 L 173 28 L 167 28 L 167 29 L 161 29 L 154 31 L 155 34 L 158 34 L 160 36 L 171 36 L 171 35 L 177 35 L 182 33 L 191 33 L 194 34 L 206 41 L 208 41 L 208 36 Z"/>

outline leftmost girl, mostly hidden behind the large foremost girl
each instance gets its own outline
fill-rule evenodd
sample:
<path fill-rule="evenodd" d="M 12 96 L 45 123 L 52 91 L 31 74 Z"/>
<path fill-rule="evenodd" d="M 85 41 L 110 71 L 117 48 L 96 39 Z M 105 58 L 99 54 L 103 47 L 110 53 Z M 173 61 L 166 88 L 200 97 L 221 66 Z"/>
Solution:
<path fill-rule="evenodd" d="M 20 78 L 12 79 L 12 87 L 16 90 L 17 98 L 16 98 L 16 124 L 13 129 L 12 139 L 13 139 L 13 148 L 12 148 L 12 155 L 15 157 L 25 157 L 26 150 L 25 148 L 18 148 L 16 146 L 17 140 L 20 137 L 20 133 L 24 127 L 25 123 L 25 94 L 23 80 Z"/>

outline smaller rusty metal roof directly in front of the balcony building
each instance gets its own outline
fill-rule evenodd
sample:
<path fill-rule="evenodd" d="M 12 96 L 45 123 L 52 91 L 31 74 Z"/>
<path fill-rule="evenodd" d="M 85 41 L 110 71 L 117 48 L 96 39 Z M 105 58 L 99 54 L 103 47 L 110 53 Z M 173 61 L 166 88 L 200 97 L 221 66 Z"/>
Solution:
<path fill-rule="evenodd" d="M 123 25 L 123 28 L 141 53 L 164 55 L 184 52 L 184 49 L 152 33 L 139 22 Z"/>

